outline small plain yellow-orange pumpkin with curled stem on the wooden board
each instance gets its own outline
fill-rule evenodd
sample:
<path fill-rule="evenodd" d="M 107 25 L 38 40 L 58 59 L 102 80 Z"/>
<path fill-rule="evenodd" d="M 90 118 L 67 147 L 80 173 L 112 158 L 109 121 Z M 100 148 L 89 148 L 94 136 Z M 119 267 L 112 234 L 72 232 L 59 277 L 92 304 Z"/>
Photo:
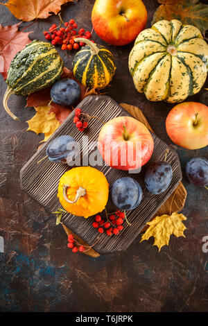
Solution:
<path fill-rule="evenodd" d="M 58 185 L 58 198 L 67 212 L 85 218 L 102 212 L 109 187 L 105 175 L 91 166 L 78 166 L 65 172 Z"/>

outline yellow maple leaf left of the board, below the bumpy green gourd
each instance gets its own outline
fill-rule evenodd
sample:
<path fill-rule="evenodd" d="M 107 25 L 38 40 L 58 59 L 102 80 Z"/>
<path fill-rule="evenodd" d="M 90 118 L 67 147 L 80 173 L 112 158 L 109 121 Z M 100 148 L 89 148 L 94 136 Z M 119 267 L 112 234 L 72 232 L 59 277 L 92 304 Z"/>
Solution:
<path fill-rule="evenodd" d="M 60 122 L 55 119 L 55 113 L 50 112 L 51 107 L 49 105 L 38 106 L 35 110 L 34 117 L 26 121 L 28 123 L 27 130 L 31 130 L 37 135 L 43 133 L 45 137 L 42 141 L 46 141 L 60 126 Z"/>

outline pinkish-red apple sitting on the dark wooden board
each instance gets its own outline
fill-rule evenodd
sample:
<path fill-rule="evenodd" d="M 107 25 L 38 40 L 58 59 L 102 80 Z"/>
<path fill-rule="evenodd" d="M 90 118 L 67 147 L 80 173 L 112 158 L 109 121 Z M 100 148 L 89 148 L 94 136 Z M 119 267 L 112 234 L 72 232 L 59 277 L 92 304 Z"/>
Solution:
<path fill-rule="evenodd" d="M 132 117 L 107 121 L 98 137 L 98 149 L 109 166 L 121 170 L 141 168 L 153 153 L 154 141 L 148 128 Z"/>

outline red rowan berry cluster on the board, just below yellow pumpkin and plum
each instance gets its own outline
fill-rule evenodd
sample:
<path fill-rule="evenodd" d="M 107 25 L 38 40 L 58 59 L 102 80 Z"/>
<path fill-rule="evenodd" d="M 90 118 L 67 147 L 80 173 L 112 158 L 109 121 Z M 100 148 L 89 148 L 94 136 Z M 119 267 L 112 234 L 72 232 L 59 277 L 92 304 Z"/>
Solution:
<path fill-rule="evenodd" d="M 108 215 L 110 215 L 108 217 Z M 98 229 L 99 233 L 104 233 L 108 236 L 113 234 L 119 234 L 123 230 L 123 221 L 125 218 L 125 212 L 120 212 L 117 210 L 114 214 L 108 214 L 106 212 L 107 221 L 104 221 L 100 215 L 95 216 L 95 221 L 92 223 L 92 226 Z"/>

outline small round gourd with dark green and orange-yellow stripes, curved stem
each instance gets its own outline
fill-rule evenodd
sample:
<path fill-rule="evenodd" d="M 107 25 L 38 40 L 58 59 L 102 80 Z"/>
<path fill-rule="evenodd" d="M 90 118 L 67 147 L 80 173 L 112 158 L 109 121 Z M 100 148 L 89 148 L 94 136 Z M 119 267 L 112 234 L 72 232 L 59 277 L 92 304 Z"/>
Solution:
<path fill-rule="evenodd" d="M 75 42 L 87 44 L 76 53 L 72 62 L 76 80 L 89 89 L 102 89 L 107 86 L 116 69 L 112 53 L 104 46 L 82 37 L 76 38 Z"/>

